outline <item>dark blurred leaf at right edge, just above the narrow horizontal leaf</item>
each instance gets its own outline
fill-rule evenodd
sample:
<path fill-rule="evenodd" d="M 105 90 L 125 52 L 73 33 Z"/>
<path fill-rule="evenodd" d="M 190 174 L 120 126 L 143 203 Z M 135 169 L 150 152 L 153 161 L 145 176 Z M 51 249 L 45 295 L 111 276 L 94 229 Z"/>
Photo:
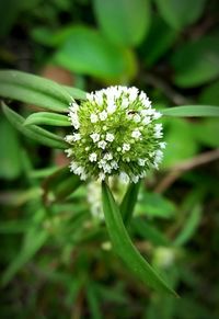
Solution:
<path fill-rule="evenodd" d="M 219 80 L 203 89 L 198 102 L 219 106 Z"/>

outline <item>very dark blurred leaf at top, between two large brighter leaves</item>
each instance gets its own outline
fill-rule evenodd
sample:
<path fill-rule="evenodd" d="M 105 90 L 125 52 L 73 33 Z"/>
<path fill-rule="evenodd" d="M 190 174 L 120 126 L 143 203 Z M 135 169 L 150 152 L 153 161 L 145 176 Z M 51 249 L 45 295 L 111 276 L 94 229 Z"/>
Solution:
<path fill-rule="evenodd" d="M 146 66 L 153 66 L 171 48 L 177 35 L 177 31 L 154 15 L 146 42 L 140 47 Z"/>

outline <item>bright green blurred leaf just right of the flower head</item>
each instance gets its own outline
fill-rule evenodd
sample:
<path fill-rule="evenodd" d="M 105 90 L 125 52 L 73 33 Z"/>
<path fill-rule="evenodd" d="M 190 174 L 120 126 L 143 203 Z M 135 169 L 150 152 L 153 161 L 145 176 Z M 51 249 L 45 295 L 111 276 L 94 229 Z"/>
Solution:
<path fill-rule="evenodd" d="M 181 118 L 171 118 L 165 134 L 166 148 L 162 168 L 171 168 L 182 160 L 192 158 L 198 150 L 194 125 Z"/>

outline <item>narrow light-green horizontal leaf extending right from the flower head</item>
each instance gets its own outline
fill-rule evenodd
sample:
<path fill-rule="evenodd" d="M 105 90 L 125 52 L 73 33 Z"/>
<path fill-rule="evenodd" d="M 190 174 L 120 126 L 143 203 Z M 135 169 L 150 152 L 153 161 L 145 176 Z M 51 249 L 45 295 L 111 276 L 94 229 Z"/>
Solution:
<path fill-rule="evenodd" d="M 200 116 L 219 116 L 219 107 L 211 105 L 185 105 L 160 110 L 165 116 L 177 117 L 200 117 Z"/>

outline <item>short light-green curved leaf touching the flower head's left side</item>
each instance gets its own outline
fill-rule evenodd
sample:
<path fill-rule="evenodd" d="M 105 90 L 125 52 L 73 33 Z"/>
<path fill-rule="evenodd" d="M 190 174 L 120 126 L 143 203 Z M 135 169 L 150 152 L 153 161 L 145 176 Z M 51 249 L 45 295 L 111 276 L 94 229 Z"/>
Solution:
<path fill-rule="evenodd" d="M 33 125 L 33 124 L 42 124 L 42 125 L 53 125 L 53 126 L 71 126 L 71 123 L 66 115 L 50 113 L 50 112 L 37 112 L 31 114 L 24 125 Z"/>

